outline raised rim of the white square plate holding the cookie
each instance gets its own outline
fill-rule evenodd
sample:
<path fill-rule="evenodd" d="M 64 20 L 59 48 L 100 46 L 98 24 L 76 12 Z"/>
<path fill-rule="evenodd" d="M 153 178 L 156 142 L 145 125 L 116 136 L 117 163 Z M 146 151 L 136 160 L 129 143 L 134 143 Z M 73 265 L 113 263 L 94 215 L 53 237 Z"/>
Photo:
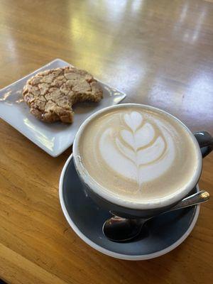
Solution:
<path fill-rule="evenodd" d="M 33 76 L 34 73 L 36 72 L 40 72 L 41 69 L 43 69 L 43 67 L 46 67 L 47 65 L 51 65 L 53 64 L 54 62 L 57 62 L 57 61 L 60 61 L 60 62 L 64 62 L 65 64 L 67 65 L 71 65 L 72 67 L 74 67 L 72 64 L 70 64 L 69 62 L 65 61 L 65 60 L 62 60 L 60 58 L 55 58 L 54 60 L 46 63 L 45 65 L 39 67 L 38 69 L 34 70 L 33 72 L 31 73 L 28 73 L 27 75 L 19 78 L 18 80 L 16 80 L 15 82 L 12 82 L 11 84 L 7 85 L 6 87 L 3 87 L 0 89 L 0 92 L 4 92 L 4 90 L 12 87 L 13 85 L 17 84 L 18 82 L 20 82 L 21 80 L 25 80 L 27 77 L 30 77 L 30 76 Z M 115 88 L 115 87 L 112 87 L 111 85 L 109 84 L 106 84 L 104 82 L 102 82 L 101 80 L 98 80 L 96 77 L 95 79 L 100 82 L 101 84 L 104 84 L 106 85 L 107 87 L 109 87 L 110 89 L 115 89 L 116 91 L 118 91 L 119 93 L 121 93 L 121 95 L 123 96 L 120 100 L 119 103 L 121 103 L 125 98 L 126 98 L 126 93 L 120 91 L 119 89 Z M 113 105 L 113 104 L 111 104 Z M 28 136 L 28 134 L 26 132 L 23 132 L 22 129 L 18 126 L 15 126 L 13 123 L 11 124 L 11 122 L 9 121 L 9 119 L 5 118 L 4 116 L 1 115 L 0 113 L 0 118 L 5 121 L 7 124 L 9 124 L 10 126 L 13 127 L 13 129 L 16 129 L 16 131 L 18 131 L 19 133 L 21 133 L 23 136 L 25 136 L 26 138 L 28 138 L 28 140 L 30 140 L 31 142 L 33 142 L 36 146 L 38 146 L 40 149 L 42 149 L 43 151 L 45 151 L 45 153 L 48 153 L 48 155 L 52 156 L 53 158 L 57 158 L 59 155 L 61 155 L 64 151 L 66 151 L 70 146 L 72 146 L 72 143 L 74 141 L 74 138 L 73 138 L 73 141 L 72 139 L 70 141 L 72 141 L 71 143 L 68 143 L 67 145 L 65 146 L 62 146 L 61 148 L 58 148 L 58 149 L 55 149 L 54 151 L 50 151 L 48 148 L 45 148 L 45 146 L 43 146 L 43 144 L 40 144 L 38 143 L 38 141 L 36 141 L 35 139 L 33 139 L 32 137 Z"/>

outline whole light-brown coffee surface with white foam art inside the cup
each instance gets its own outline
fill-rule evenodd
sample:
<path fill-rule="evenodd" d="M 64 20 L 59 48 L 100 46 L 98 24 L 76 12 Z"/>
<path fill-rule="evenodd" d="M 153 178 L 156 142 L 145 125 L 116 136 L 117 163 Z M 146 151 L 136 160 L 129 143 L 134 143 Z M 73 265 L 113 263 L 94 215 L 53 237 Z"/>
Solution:
<path fill-rule="evenodd" d="M 100 190 L 130 202 L 158 200 L 192 180 L 197 152 L 172 116 L 146 107 L 119 107 L 84 127 L 79 155 Z"/>

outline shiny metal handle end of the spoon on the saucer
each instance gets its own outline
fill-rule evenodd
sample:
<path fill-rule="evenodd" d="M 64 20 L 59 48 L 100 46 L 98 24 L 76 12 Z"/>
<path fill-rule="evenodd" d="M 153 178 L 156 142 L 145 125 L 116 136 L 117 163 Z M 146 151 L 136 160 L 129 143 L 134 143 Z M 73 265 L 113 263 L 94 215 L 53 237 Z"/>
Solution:
<path fill-rule="evenodd" d="M 197 205 L 202 202 L 207 202 L 209 200 L 209 192 L 201 190 L 200 192 L 195 193 L 195 195 L 190 195 L 184 200 L 181 200 L 178 204 L 172 207 L 169 211 L 177 210 L 180 208 L 189 207 L 192 205 Z"/>

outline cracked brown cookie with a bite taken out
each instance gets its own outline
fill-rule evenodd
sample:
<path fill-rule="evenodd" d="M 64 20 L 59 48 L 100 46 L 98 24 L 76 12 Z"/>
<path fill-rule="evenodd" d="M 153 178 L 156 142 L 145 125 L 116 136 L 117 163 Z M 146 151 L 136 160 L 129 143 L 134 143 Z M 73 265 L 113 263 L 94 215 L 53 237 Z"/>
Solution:
<path fill-rule="evenodd" d="M 31 114 L 45 122 L 72 123 L 73 104 L 100 102 L 102 97 L 102 88 L 92 75 L 70 66 L 39 72 L 23 87 Z"/>

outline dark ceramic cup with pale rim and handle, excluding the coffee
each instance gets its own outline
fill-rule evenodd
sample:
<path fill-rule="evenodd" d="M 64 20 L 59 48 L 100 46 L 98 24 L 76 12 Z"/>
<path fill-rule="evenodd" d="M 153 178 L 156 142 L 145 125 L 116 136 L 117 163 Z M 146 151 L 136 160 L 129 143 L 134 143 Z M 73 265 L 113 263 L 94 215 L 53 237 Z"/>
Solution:
<path fill-rule="evenodd" d="M 160 214 L 160 212 L 163 212 L 170 207 L 173 207 L 175 204 L 177 204 L 180 200 L 182 200 L 184 197 L 186 197 L 190 191 L 197 185 L 197 182 L 200 179 L 200 175 L 202 173 L 202 158 L 204 158 L 206 155 L 208 155 L 213 150 L 213 138 L 207 131 L 200 131 L 197 133 L 192 133 L 189 129 L 187 129 L 187 126 L 185 124 L 182 124 L 183 127 L 190 133 L 190 136 L 192 137 L 193 143 L 195 143 L 195 148 L 197 149 L 197 156 L 200 157 L 199 159 L 199 167 L 197 168 L 197 173 L 195 175 L 195 180 L 192 180 L 190 184 L 192 185 L 190 188 L 187 188 L 184 192 L 178 192 L 177 197 L 170 202 L 170 200 L 167 200 L 167 202 L 163 202 L 162 204 L 158 204 L 158 206 L 148 206 L 143 207 L 142 209 L 138 209 L 136 207 L 131 206 L 124 206 L 121 202 L 116 202 L 114 198 L 111 195 L 103 195 L 102 190 L 99 190 L 97 188 L 97 185 L 94 185 L 91 180 L 88 179 L 87 171 L 82 170 L 82 163 L 80 163 L 80 156 L 78 150 L 80 136 L 82 135 L 82 132 L 84 131 L 84 127 L 87 126 L 89 121 L 92 119 L 95 119 L 95 117 L 99 114 L 102 114 L 102 112 L 106 111 L 107 109 L 111 108 L 119 108 L 119 107 L 133 107 L 133 106 L 141 106 L 146 107 L 148 109 L 151 109 L 153 111 L 158 110 L 162 112 L 163 114 L 167 114 L 168 116 L 171 116 L 177 124 L 182 124 L 182 122 L 175 118 L 172 114 L 168 114 L 168 112 L 156 109 L 155 107 L 150 106 L 143 106 L 141 104 L 118 104 L 116 106 L 107 107 L 104 109 L 101 109 L 100 111 L 97 111 L 96 113 L 89 116 L 86 121 L 80 126 L 80 129 L 77 131 L 77 134 L 75 136 L 75 141 L 73 144 L 73 158 L 74 158 L 74 164 L 75 169 L 77 171 L 77 174 L 80 177 L 80 180 L 82 182 L 82 185 L 84 189 L 87 191 L 88 195 L 92 197 L 94 202 L 99 204 L 100 207 L 104 207 L 104 209 L 109 210 L 112 214 L 116 214 L 119 217 L 124 218 L 141 218 L 141 217 L 151 217 L 155 214 Z M 81 164 L 81 165 L 80 165 Z M 122 200 L 121 200 L 122 201 Z"/>

